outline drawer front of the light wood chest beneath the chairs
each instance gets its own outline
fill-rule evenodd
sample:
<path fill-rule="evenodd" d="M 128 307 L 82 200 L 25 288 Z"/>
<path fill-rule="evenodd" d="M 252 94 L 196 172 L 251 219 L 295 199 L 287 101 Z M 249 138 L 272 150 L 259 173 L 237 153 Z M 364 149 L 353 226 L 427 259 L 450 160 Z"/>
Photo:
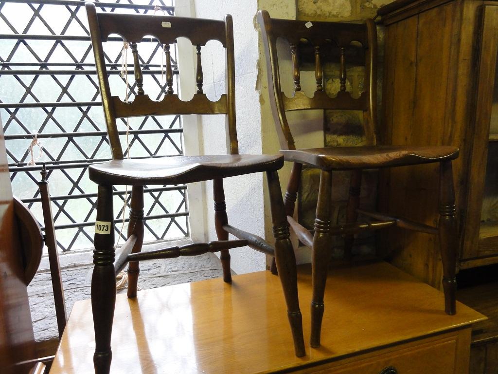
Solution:
<path fill-rule="evenodd" d="M 401 346 L 402 347 L 402 346 Z M 456 374 L 468 373 L 457 368 L 456 339 L 444 339 L 399 349 L 345 365 L 334 365 L 313 374 Z M 467 353 L 468 354 L 468 353 Z"/>

